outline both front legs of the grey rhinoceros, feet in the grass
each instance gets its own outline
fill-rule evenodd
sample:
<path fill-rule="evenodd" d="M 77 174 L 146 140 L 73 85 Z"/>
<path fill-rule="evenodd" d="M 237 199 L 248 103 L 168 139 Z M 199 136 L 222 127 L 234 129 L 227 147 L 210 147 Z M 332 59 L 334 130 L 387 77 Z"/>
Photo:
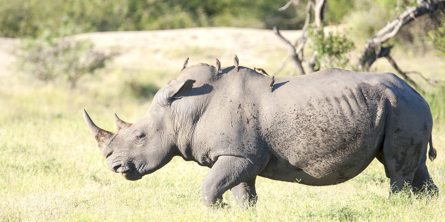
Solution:
<path fill-rule="evenodd" d="M 235 198 L 239 196 L 242 205 L 247 204 L 244 201 L 249 201 L 249 198 L 243 199 L 242 196 L 256 196 L 255 177 L 263 166 L 256 162 L 242 157 L 220 156 L 202 183 L 202 202 L 207 206 L 214 205 L 223 200 L 224 192 L 235 188 L 232 191 Z"/>

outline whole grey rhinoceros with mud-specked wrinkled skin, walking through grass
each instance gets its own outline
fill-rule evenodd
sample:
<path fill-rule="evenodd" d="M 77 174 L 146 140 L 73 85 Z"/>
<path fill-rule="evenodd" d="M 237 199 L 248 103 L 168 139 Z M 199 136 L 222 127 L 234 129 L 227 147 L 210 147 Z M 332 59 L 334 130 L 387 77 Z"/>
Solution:
<path fill-rule="evenodd" d="M 437 194 L 425 165 L 433 121 L 428 104 L 391 73 L 328 68 L 275 78 L 247 67 L 185 68 L 156 93 L 136 123 L 116 117 L 117 134 L 84 111 L 107 165 L 138 180 L 174 156 L 210 167 L 202 183 L 206 205 L 231 190 L 255 204 L 255 178 L 325 186 L 360 174 L 374 158 L 392 192 L 405 183 Z M 431 147 L 429 155 L 435 157 Z M 429 185 L 429 186 L 425 186 Z"/>

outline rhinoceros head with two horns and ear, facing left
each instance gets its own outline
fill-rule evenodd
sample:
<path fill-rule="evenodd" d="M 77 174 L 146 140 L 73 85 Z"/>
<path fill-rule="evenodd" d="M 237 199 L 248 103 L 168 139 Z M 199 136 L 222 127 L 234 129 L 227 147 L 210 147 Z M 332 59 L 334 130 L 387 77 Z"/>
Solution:
<path fill-rule="evenodd" d="M 138 180 L 177 155 L 178 127 L 173 121 L 171 103 L 187 95 L 194 82 L 174 79 L 156 93 L 146 115 L 136 123 L 122 121 L 115 114 L 117 134 L 97 127 L 83 110 L 85 122 L 111 170 L 128 180 Z"/>

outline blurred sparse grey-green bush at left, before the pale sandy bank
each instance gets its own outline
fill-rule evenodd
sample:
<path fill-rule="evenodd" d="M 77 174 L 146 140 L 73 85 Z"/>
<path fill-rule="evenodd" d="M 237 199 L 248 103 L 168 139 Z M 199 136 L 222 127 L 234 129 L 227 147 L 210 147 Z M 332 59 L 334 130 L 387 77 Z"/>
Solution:
<path fill-rule="evenodd" d="M 74 88 L 82 76 L 93 75 L 113 55 L 96 50 L 89 40 L 65 36 L 23 40 L 16 56 L 20 69 L 29 75 Z"/>

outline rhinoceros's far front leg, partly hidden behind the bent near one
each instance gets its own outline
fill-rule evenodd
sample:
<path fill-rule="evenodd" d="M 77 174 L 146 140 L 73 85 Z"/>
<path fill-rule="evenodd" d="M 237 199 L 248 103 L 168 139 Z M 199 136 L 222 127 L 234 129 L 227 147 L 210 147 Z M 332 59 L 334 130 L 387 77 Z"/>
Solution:
<path fill-rule="evenodd" d="M 254 206 L 257 201 L 256 190 L 255 190 L 255 178 L 242 182 L 230 189 L 236 202 L 240 206 Z"/>

